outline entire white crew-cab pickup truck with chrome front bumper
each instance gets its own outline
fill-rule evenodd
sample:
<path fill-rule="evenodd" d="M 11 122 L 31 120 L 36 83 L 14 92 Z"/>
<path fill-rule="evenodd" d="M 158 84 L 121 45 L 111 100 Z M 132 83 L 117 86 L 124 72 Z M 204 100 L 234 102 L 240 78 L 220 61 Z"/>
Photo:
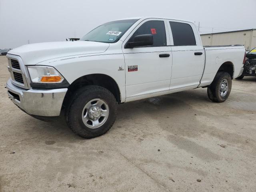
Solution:
<path fill-rule="evenodd" d="M 199 87 L 225 101 L 245 48 L 203 47 L 193 22 L 146 17 L 102 24 L 80 41 L 24 45 L 7 58 L 14 104 L 36 118 L 63 111 L 75 134 L 93 138 L 111 128 L 124 102 Z"/>

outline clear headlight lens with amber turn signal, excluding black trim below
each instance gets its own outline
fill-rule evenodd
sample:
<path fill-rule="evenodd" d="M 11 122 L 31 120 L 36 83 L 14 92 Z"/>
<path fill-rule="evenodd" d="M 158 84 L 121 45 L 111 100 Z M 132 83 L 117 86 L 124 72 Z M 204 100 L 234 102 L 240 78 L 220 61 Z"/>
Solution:
<path fill-rule="evenodd" d="M 32 83 L 61 83 L 64 78 L 50 66 L 27 66 Z"/>

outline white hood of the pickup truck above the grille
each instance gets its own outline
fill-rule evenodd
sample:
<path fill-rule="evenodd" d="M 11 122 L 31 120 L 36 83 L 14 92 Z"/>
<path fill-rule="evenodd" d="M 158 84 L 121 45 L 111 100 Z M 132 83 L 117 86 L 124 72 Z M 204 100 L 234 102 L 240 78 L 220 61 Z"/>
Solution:
<path fill-rule="evenodd" d="M 102 53 L 108 47 L 108 43 L 92 41 L 46 42 L 23 45 L 10 50 L 8 54 L 20 56 L 25 65 L 35 65 L 54 58 Z"/>

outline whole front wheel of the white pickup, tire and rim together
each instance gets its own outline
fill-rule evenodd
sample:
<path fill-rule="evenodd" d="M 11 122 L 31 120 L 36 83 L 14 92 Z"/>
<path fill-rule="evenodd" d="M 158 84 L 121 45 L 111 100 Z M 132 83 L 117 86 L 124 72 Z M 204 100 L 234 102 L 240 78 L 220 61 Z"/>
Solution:
<path fill-rule="evenodd" d="M 114 95 L 100 86 L 85 86 L 75 94 L 66 111 L 70 129 L 83 138 L 105 134 L 114 124 L 117 102 Z"/>

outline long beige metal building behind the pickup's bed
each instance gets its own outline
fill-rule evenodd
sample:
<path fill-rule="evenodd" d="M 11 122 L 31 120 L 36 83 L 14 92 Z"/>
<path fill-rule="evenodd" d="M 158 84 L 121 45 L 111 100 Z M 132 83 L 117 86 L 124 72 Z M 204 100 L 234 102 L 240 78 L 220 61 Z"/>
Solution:
<path fill-rule="evenodd" d="M 244 45 L 246 50 L 256 47 L 256 29 L 201 34 L 204 46 Z"/>

